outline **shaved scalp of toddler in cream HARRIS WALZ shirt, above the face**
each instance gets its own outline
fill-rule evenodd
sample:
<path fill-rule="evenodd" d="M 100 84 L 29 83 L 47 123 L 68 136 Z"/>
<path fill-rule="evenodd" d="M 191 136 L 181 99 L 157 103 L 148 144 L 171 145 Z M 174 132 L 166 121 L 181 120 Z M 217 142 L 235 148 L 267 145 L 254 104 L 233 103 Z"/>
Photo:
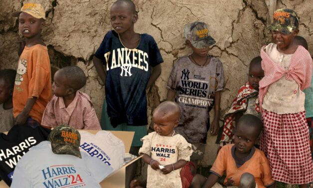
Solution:
<path fill-rule="evenodd" d="M 181 110 L 177 103 L 173 101 L 165 101 L 155 108 L 153 115 L 155 114 L 160 115 L 162 118 L 178 121 L 180 119 Z"/>

